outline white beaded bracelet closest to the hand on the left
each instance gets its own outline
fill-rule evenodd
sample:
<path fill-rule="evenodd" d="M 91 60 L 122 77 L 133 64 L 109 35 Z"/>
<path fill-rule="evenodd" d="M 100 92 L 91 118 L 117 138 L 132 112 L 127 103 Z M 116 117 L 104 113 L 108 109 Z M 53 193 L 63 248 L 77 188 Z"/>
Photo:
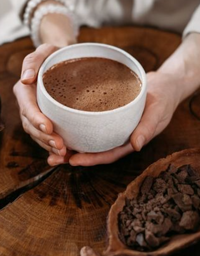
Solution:
<path fill-rule="evenodd" d="M 39 7 L 35 13 L 34 17 L 31 20 L 31 38 L 35 47 L 38 47 L 42 42 L 40 39 L 40 23 L 42 18 L 48 13 L 60 13 L 65 15 L 69 20 L 72 26 L 74 36 L 78 36 L 79 25 L 77 20 L 74 18 L 73 12 L 71 12 L 66 6 L 56 5 L 56 4 L 47 4 L 45 6 Z"/>

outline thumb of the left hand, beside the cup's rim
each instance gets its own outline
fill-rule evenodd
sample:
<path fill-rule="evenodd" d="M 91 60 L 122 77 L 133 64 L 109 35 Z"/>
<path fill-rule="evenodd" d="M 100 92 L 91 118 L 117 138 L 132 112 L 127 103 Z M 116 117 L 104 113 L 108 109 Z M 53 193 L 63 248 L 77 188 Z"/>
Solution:
<path fill-rule="evenodd" d="M 21 82 L 24 84 L 33 84 L 36 81 L 37 74 L 43 61 L 58 48 L 51 44 L 40 45 L 35 52 L 28 54 L 22 64 Z"/>

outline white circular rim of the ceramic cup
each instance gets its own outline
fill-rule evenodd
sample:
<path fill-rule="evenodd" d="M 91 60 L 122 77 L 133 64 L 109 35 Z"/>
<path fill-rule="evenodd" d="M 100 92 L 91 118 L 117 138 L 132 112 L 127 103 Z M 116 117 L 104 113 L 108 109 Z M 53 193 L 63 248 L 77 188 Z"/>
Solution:
<path fill-rule="evenodd" d="M 125 55 L 127 58 L 129 58 L 130 60 L 132 60 L 132 62 L 135 63 L 135 65 L 137 66 L 137 68 L 139 69 L 139 72 L 141 73 L 141 81 L 142 81 L 142 89 L 140 91 L 140 93 L 138 94 L 138 96 L 132 100 L 131 102 L 129 102 L 128 104 L 122 106 L 122 107 L 119 107 L 119 108 L 114 108 L 114 109 L 111 109 L 111 110 L 105 110 L 105 111 L 85 111 L 85 110 L 79 110 L 79 109 L 74 109 L 74 108 L 70 108 L 70 107 L 67 107 L 63 104 L 61 104 L 60 102 L 58 102 L 57 100 L 55 100 L 46 90 L 44 84 L 43 84 L 43 79 L 42 79 L 42 76 L 43 76 L 43 70 L 46 66 L 46 64 L 51 60 L 53 59 L 58 53 L 60 52 L 64 52 L 66 51 L 67 49 L 70 49 L 70 48 L 78 48 L 79 46 L 81 45 L 85 45 L 85 46 L 100 46 L 100 47 L 105 47 L 105 48 L 109 48 L 109 49 L 112 49 L 112 50 L 115 50 L 117 52 L 120 52 L 122 53 L 123 55 Z M 109 59 L 109 58 L 108 58 Z M 58 108 L 62 108 L 63 110 L 67 110 L 68 112 L 71 112 L 71 113 L 77 113 L 77 114 L 81 114 L 81 115 L 106 115 L 106 114 L 113 114 L 113 113 L 116 113 L 116 112 L 119 112 L 119 111 L 123 111 L 123 110 L 126 110 L 127 108 L 131 107 L 132 105 L 136 104 L 141 98 L 142 98 L 142 95 L 146 92 L 146 73 L 142 67 L 142 65 L 140 64 L 140 62 L 138 60 L 136 60 L 131 54 L 129 54 L 128 52 L 116 47 L 116 46 L 112 46 L 110 44 L 101 44 L 101 43 L 78 43 L 78 44 L 72 44 L 72 45 L 69 45 L 69 46 L 66 46 L 66 47 L 63 47 L 59 50 L 57 50 L 56 52 L 52 53 L 43 63 L 42 63 L 42 66 L 40 67 L 39 69 L 39 72 L 38 72 L 38 78 L 37 78 L 37 86 L 40 86 L 40 89 L 42 91 L 42 93 L 44 94 L 44 96 L 50 100 L 53 104 L 55 104 Z"/>

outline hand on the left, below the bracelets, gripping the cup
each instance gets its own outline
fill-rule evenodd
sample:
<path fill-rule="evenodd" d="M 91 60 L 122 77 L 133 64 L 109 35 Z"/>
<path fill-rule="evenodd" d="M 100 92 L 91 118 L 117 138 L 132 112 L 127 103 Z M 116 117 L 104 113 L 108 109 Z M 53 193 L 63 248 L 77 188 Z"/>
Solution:
<path fill-rule="evenodd" d="M 59 158 L 52 157 L 52 155 L 67 158 L 66 146 L 63 139 L 53 132 L 52 122 L 42 114 L 37 105 L 36 80 L 43 61 L 57 49 L 57 47 L 50 44 L 42 44 L 35 52 L 28 54 L 23 61 L 21 80 L 13 87 L 13 92 L 19 104 L 23 128 L 33 140 L 50 152 L 48 158 L 50 165 L 60 164 Z M 70 151 L 68 151 L 68 155 L 71 156 Z M 57 159 L 57 161 L 54 159 Z"/>

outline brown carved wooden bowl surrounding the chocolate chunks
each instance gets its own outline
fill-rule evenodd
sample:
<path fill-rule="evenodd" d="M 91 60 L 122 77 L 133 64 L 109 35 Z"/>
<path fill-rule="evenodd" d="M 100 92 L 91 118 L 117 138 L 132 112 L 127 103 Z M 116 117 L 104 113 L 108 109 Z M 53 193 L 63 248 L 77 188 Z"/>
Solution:
<path fill-rule="evenodd" d="M 169 164 L 180 167 L 190 164 L 197 172 L 200 172 L 200 148 L 186 149 L 162 158 L 151 164 L 140 176 L 133 180 L 124 193 L 120 193 L 115 203 L 112 205 L 107 222 L 108 247 L 105 255 L 126 255 L 126 256 L 164 256 L 177 250 L 183 249 L 200 240 L 200 227 L 195 233 L 175 235 L 170 240 L 152 252 L 139 252 L 129 249 L 119 239 L 118 214 L 123 210 L 125 198 L 135 198 L 140 190 L 143 180 L 146 176 L 158 177 L 165 171 Z"/>

